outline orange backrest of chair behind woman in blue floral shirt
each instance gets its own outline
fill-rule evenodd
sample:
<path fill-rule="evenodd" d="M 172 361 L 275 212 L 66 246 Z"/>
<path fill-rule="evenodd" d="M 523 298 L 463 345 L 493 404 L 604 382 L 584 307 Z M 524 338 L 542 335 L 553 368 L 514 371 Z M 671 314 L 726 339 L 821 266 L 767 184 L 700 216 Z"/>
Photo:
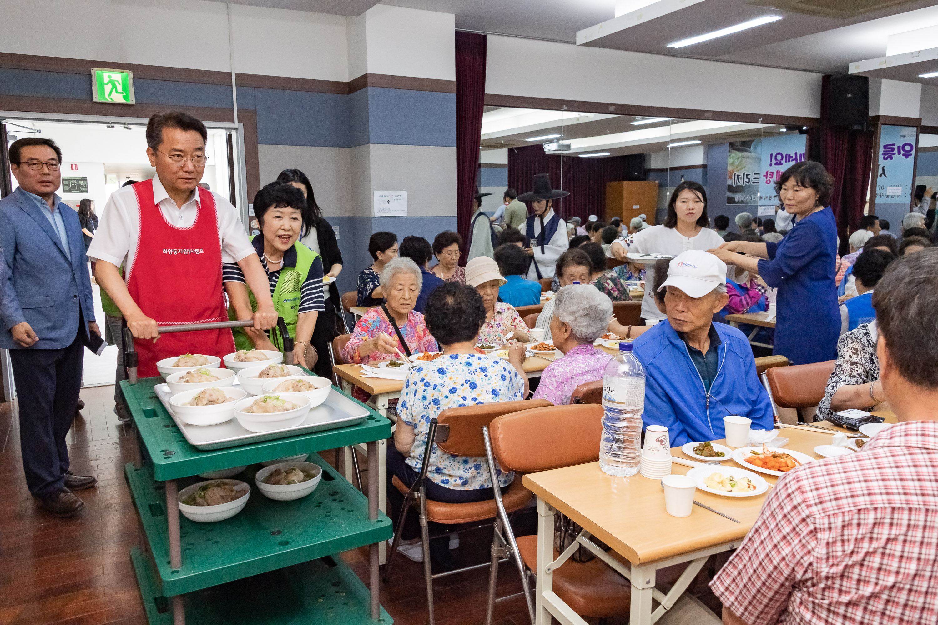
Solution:
<path fill-rule="evenodd" d="M 528 399 L 496 401 L 440 410 L 440 413 L 436 415 L 436 421 L 439 424 L 436 445 L 446 454 L 484 457 L 485 440 L 482 439 L 482 427 L 491 424 L 492 419 L 509 412 L 527 408 L 546 408 L 551 405 L 551 402 L 546 399 Z M 446 429 L 449 430 L 448 433 Z"/>

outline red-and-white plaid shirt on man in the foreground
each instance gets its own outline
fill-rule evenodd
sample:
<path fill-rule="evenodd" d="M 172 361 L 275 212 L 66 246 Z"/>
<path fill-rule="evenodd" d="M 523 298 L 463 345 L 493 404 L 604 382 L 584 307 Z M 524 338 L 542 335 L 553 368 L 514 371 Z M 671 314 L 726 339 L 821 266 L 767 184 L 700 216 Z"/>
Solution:
<path fill-rule="evenodd" d="M 938 423 L 779 480 L 710 584 L 749 625 L 938 622 Z"/>

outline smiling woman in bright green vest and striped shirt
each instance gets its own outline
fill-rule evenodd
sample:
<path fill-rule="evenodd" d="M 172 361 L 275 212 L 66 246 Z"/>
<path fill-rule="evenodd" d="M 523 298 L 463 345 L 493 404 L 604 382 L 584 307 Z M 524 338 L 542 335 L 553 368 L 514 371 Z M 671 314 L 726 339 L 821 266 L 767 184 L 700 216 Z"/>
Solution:
<path fill-rule="evenodd" d="M 316 351 L 310 349 L 310 337 L 319 313 L 325 310 L 325 300 L 323 260 L 299 243 L 304 204 L 303 193 L 295 186 L 271 183 L 258 191 L 253 205 L 261 234 L 251 237 L 251 245 L 267 272 L 274 308 L 286 321 L 287 331 L 294 338 L 294 363 L 309 369 L 316 359 Z M 228 317 L 251 319 L 257 302 L 241 269 L 236 264 L 225 263 L 221 280 L 230 301 Z M 271 337 L 250 327 L 236 328 L 234 345 L 238 350 L 283 351 L 277 328 L 271 331 Z"/>

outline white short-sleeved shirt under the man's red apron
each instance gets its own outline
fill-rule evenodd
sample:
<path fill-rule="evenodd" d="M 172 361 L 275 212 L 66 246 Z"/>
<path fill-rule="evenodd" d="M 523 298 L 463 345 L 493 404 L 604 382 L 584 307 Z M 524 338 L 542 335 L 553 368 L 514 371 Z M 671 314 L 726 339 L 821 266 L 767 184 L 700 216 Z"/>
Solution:
<path fill-rule="evenodd" d="M 209 191 L 212 193 L 211 191 Z M 251 254 L 256 254 L 250 245 L 248 233 L 238 218 L 237 209 L 230 201 L 219 194 L 212 193 L 215 199 L 215 212 L 218 216 L 219 242 L 221 243 L 221 262 L 237 262 Z M 186 229 L 195 223 L 199 214 L 199 194 L 192 192 L 189 201 L 177 208 L 170 198 L 159 176 L 153 178 L 153 201 L 159 204 L 159 213 L 166 223 L 174 228 Z M 130 275 L 133 256 L 137 251 L 137 239 L 140 231 L 140 214 L 137 212 L 137 196 L 131 186 L 124 186 L 111 194 L 104 211 L 100 214 L 98 230 L 88 248 L 88 258 L 105 260 L 114 266 L 124 265 L 125 279 Z M 219 271 L 221 266 L 219 265 Z"/>

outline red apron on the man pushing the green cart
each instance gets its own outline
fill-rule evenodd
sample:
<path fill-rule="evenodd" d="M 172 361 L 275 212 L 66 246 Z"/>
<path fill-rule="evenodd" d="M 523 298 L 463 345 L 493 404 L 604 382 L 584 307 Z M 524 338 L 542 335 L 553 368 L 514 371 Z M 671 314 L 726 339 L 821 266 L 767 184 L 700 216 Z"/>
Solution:
<path fill-rule="evenodd" d="M 166 223 L 153 200 L 153 181 L 133 186 L 140 231 L 127 281 L 133 301 L 159 325 L 227 321 L 221 290 L 221 244 L 215 199 L 199 189 L 199 213 L 189 228 Z M 135 341 L 137 375 L 159 376 L 157 362 L 186 353 L 219 358 L 234 352 L 231 330 L 159 335 L 156 343 Z M 221 365 L 223 366 L 223 365 Z"/>

